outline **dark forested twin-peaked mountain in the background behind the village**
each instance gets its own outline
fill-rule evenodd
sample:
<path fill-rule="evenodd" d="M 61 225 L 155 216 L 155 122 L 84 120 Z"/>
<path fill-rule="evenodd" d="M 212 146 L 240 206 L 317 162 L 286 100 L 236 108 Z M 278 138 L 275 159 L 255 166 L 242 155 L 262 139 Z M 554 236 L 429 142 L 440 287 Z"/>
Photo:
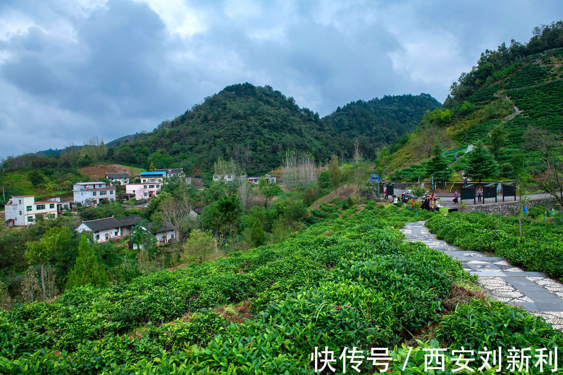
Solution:
<path fill-rule="evenodd" d="M 157 168 L 180 165 L 185 170 L 211 170 L 219 157 L 232 157 L 248 173 L 260 174 L 281 165 L 287 150 L 311 152 L 317 162 L 333 153 L 350 157 L 358 137 L 366 156 L 373 158 L 378 146 L 395 142 L 420 122 L 425 110 L 438 106 L 428 94 L 385 96 L 352 102 L 320 118 L 269 85 L 235 84 L 153 132 L 109 148 L 108 157 L 123 164 L 148 166 L 153 161 Z"/>

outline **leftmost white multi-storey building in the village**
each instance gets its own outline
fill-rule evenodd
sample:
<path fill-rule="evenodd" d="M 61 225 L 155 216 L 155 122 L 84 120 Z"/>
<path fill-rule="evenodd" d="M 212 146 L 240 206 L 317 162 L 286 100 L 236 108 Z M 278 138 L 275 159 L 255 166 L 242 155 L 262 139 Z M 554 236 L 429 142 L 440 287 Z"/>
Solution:
<path fill-rule="evenodd" d="M 6 223 L 8 226 L 35 224 L 39 219 L 47 215 L 56 218 L 58 214 L 57 204 L 60 198 L 52 198 L 48 201 L 35 202 L 34 195 L 19 195 L 12 198 L 4 206 Z"/>

